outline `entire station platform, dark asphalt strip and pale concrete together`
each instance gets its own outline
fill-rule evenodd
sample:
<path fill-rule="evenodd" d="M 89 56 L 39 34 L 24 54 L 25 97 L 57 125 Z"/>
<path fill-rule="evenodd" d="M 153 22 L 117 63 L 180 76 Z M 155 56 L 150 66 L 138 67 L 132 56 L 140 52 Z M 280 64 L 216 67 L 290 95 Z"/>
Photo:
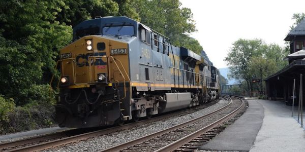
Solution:
<path fill-rule="evenodd" d="M 248 100 L 248 103 L 247 111 L 234 124 L 199 149 L 304 151 L 305 132 L 292 118 L 291 106 L 284 101 L 260 99 Z"/>

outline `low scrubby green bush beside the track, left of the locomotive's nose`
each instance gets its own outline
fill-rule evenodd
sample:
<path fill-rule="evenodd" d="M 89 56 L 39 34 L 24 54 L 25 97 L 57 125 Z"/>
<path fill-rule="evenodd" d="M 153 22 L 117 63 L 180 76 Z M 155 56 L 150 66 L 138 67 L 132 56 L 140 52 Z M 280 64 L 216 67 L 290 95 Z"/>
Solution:
<path fill-rule="evenodd" d="M 56 92 L 49 85 L 31 85 L 22 92 L 23 106 L 0 96 L 0 134 L 55 126 L 52 119 Z"/>

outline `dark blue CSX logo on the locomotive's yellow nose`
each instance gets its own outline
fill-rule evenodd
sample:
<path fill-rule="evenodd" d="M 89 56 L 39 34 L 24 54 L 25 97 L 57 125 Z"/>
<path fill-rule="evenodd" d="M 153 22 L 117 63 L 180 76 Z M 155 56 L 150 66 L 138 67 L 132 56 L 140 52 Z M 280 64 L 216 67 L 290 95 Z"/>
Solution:
<path fill-rule="evenodd" d="M 75 58 L 75 62 L 76 62 L 76 65 L 79 66 L 79 67 L 82 67 L 84 65 L 86 66 L 89 66 L 89 56 L 104 56 L 106 55 L 105 52 L 98 52 L 98 53 L 87 53 L 87 54 L 79 54 L 76 56 Z M 84 60 L 85 61 L 82 61 L 80 62 L 81 60 Z M 102 60 L 102 58 L 95 58 L 95 60 L 93 58 L 90 58 L 90 63 L 91 65 L 106 65 L 107 63 L 104 62 Z"/>

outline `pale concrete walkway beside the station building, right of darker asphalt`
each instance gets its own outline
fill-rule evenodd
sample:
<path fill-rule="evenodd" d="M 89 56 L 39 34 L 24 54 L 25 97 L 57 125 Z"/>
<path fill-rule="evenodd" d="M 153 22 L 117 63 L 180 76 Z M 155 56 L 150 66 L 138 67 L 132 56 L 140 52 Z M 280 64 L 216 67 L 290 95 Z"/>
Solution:
<path fill-rule="evenodd" d="M 281 101 L 255 101 L 263 105 L 265 118 L 250 151 L 305 151 L 305 132 L 291 117 L 291 106 Z"/>

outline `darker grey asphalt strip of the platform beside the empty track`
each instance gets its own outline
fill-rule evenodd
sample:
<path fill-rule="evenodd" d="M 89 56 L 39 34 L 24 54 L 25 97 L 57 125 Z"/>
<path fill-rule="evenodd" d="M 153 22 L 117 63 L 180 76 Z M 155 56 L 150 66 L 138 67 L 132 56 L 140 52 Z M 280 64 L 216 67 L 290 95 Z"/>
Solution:
<path fill-rule="evenodd" d="M 264 108 L 258 102 L 251 102 L 247 111 L 210 142 L 200 147 L 206 150 L 249 151 L 264 118 Z"/>

